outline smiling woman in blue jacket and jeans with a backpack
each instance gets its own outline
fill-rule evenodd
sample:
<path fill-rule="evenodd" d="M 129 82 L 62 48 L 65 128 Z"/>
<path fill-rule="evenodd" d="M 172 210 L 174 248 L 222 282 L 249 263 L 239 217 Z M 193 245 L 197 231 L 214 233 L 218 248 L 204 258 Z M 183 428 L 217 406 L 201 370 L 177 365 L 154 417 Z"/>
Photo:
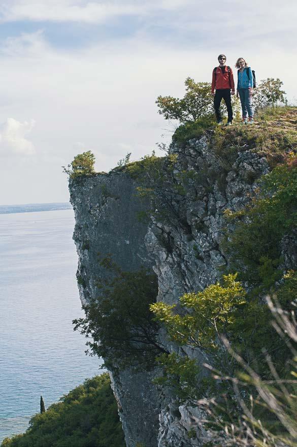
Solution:
<path fill-rule="evenodd" d="M 237 59 L 236 68 L 238 68 L 237 77 L 237 97 L 240 97 L 242 107 L 242 121 L 247 124 L 252 124 L 253 109 L 252 109 L 252 94 L 253 94 L 253 74 L 251 67 L 247 66 L 246 61 L 240 57 Z"/>

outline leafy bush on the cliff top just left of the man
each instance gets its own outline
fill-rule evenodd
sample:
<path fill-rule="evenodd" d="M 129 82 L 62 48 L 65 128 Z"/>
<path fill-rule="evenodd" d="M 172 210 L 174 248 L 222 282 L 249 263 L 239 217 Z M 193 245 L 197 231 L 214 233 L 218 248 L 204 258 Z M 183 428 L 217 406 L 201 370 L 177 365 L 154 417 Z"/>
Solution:
<path fill-rule="evenodd" d="M 186 93 L 182 99 L 173 96 L 158 96 L 156 104 L 158 113 L 166 120 L 176 119 L 181 123 L 195 121 L 213 112 L 213 96 L 208 82 L 185 80 Z"/>

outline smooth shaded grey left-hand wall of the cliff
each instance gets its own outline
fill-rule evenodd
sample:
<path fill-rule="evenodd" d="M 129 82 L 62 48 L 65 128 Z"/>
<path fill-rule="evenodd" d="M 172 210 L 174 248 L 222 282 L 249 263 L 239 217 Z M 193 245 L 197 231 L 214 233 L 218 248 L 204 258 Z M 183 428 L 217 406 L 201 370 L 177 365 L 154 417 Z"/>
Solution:
<path fill-rule="evenodd" d="M 144 238 L 147 225 L 137 212 L 148 204 L 137 198 L 136 185 L 125 174 L 106 174 L 70 183 L 71 203 L 76 225 L 73 238 L 77 247 L 78 287 L 82 303 L 100 295 L 97 284 L 106 277 L 100 258 L 112 254 L 124 271 L 141 265 L 152 267 Z M 116 359 L 115 359 L 116 361 Z M 125 440 L 155 446 L 158 433 L 159 396 L 152 385 L 153 372 L 135 373 L 129 369 L 109 371 L 118 402 Z"/>

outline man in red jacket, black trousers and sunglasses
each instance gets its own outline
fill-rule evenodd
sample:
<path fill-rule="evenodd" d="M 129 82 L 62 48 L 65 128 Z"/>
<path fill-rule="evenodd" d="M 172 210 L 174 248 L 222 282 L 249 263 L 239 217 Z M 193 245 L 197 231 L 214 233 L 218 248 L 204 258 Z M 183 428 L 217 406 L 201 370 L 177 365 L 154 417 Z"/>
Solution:
<path fill-rule="evenodd" d="M 231 67 L 226 66 L 226 56 L 224 54 L 219 55 L 218 61 L 220 65 L 215 67 L 212 73 L 211 93 L 214 96 L 213 104 L 217 123 L 222 124 L 220 105 L 222 98 L 224 98 L 228 112 L 228 121 L 226 126 L 230 126 L 233 120 L 231 95 L 235 94 L 233 71 Z"/>

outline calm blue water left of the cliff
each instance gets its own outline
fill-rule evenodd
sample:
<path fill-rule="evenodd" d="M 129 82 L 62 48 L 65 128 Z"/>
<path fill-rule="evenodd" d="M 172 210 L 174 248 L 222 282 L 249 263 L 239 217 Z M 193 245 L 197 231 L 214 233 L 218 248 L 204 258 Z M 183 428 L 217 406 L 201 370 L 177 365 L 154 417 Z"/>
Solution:
<path fill-rule="evenodd" d="M 72 320 L 76 284 L 72 210 L 0 215 L 0 442 L 30 416 L 101 373 Z"/>

